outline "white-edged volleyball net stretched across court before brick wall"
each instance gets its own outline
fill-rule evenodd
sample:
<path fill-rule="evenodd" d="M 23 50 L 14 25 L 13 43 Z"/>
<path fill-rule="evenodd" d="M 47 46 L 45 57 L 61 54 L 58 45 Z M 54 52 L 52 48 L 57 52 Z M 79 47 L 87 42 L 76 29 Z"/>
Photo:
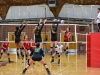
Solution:
<path fill-rule="evenodd" d="M 15 36 L 14 31 L 16 26 L 19 26 L 20 24 L 0 24 L 0 46 L 1 43 L 4 42 L 4 39 L 8 37 L 8 42 L 10 43 L 10 48 L 16 48 L 14 44 Z M 28 24 L 25 29 L 23 30 L 21 34 L 21 39 L 24 39 L 24 36 L 28 36 L 28 40 L 35 39 L 33 35 L 33 29 L 35 28 L 37 24 Z M 51 25 L 52 24 L 45 24 L 42 30 L 42 42 L 48 44 L 48 47 L 50 47 L 50 39 L 51 39 Z M 90 26 L 89 25 L 79 25 L 79 24 L 59 24 L 58 32 L 57 32 L 57 40 L 60 43 L 64 43 L 64 33 L 61 32 L 61 30 L 66 30 L 67 27 L 71 28 L 71 39 L 70 44 L 86 44 L 86 35 L 90 32 Z"/>

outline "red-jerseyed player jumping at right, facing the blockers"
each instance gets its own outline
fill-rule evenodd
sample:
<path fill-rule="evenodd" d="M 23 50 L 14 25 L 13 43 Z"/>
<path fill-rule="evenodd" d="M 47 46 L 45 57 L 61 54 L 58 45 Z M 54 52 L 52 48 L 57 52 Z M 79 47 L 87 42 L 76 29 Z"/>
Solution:
<path fill-rule="evenodd" d="M 70 36 L 71 36 L 71 32 L 70 32 L 70 28 L 67 27 L 66 31 L 62 31 L 65 32 L 64 34 L 64 52 L 66 54 L 66 57 L 68 56 L 68 49 L 69 49 L 69 44 L 67 42 L 70 42 Z"/>

